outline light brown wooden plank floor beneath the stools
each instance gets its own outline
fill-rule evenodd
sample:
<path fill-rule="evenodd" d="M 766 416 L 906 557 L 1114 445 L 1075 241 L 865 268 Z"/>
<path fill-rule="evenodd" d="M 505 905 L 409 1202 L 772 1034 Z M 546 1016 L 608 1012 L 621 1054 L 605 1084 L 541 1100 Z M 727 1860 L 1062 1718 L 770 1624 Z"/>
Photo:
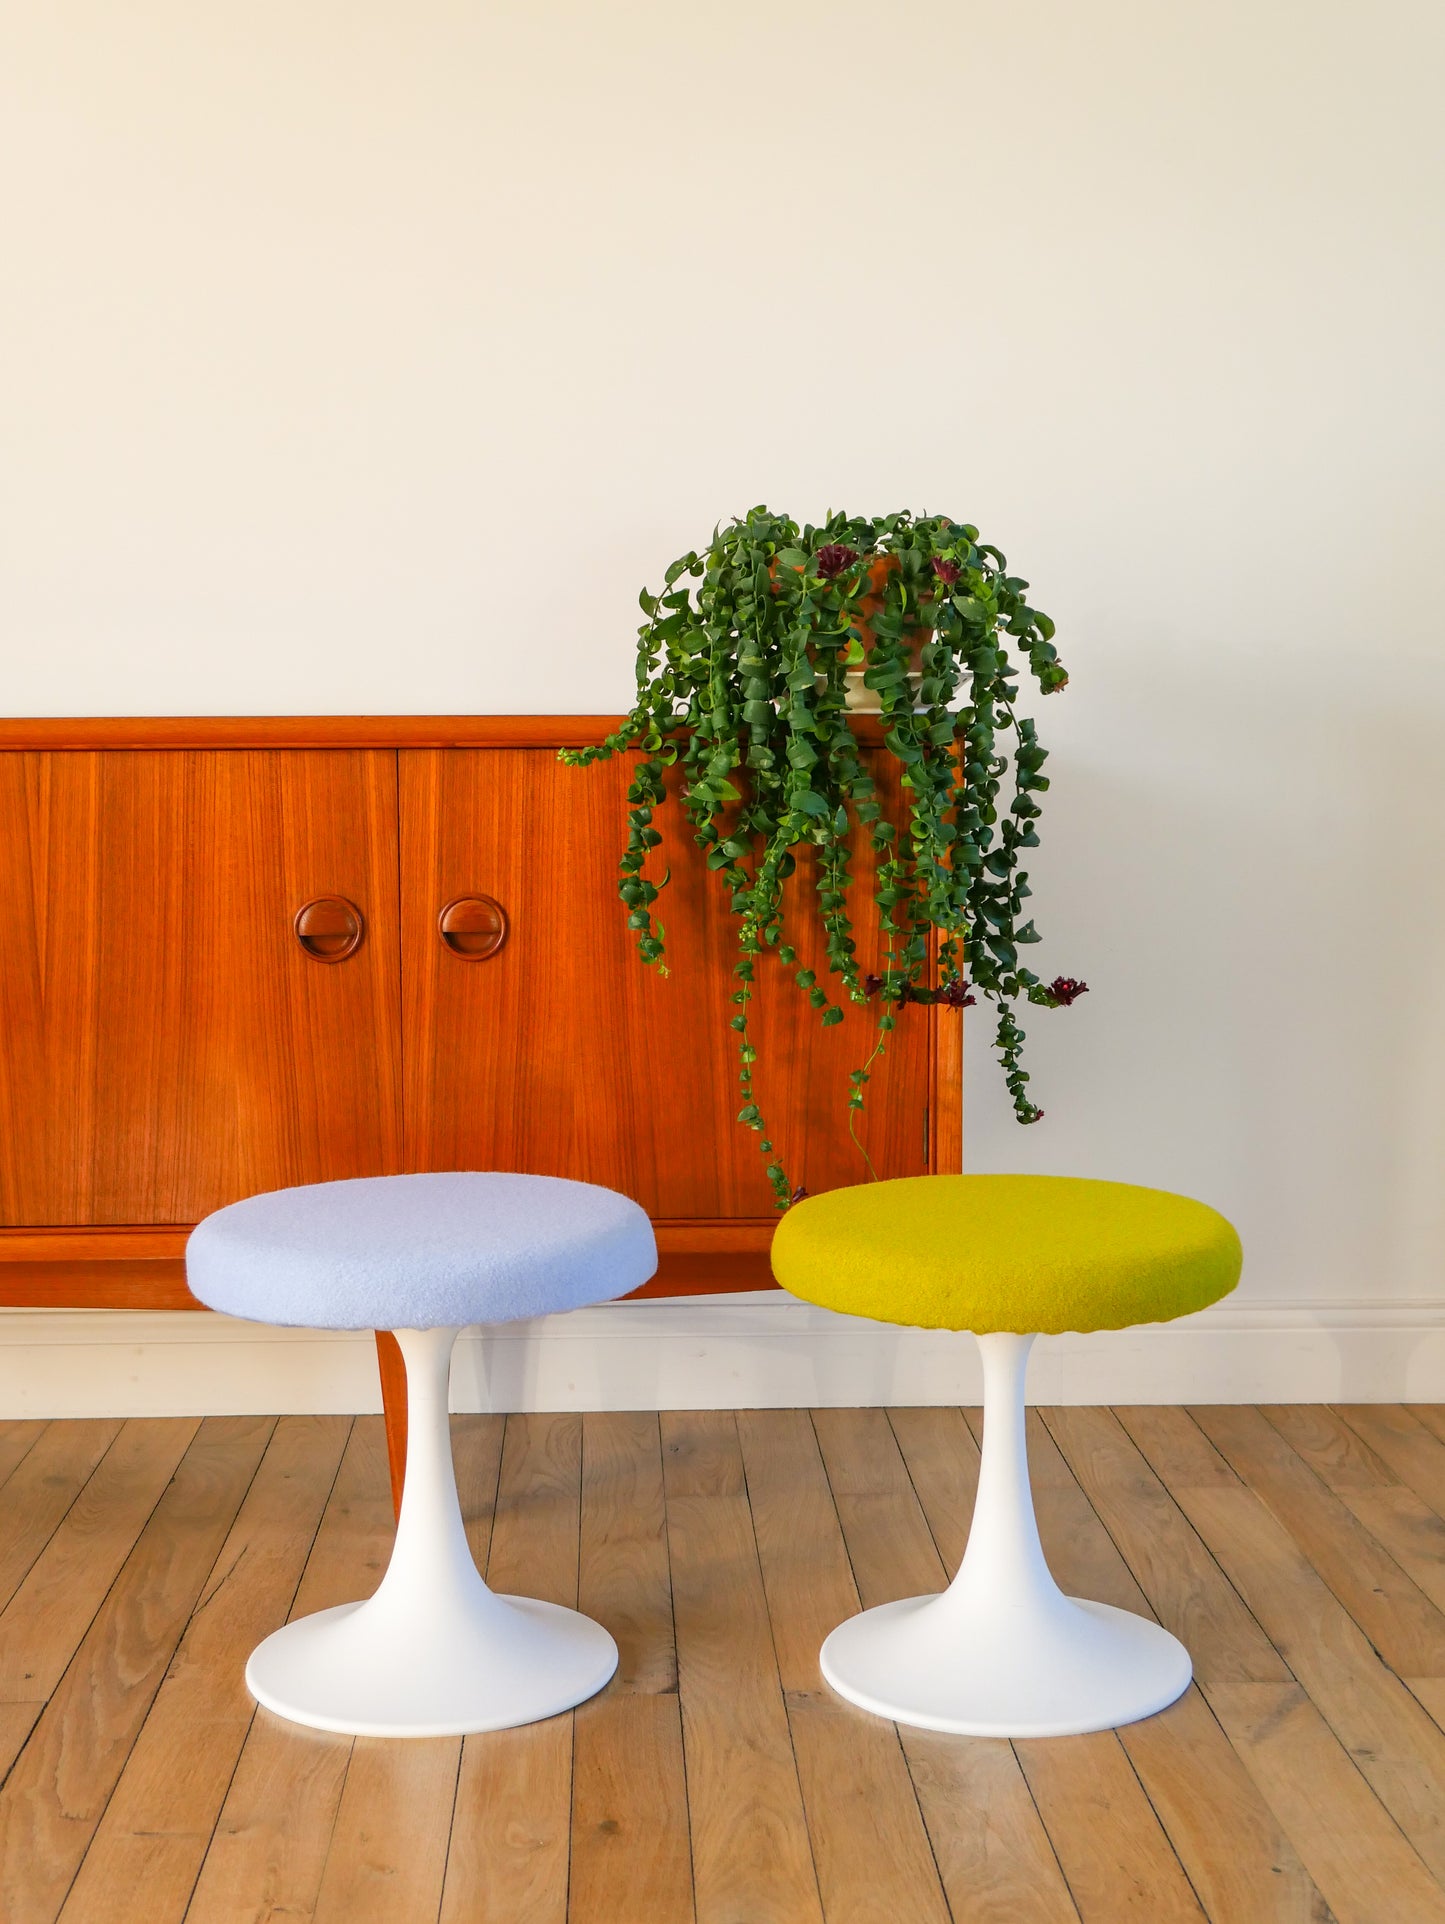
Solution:
<path fill-rule="evenodd" d="M 6 1924 L 1445 1924 L 1445 1414 L 1029 1412 L 1066 1589 L 1195 1655 L 1170 1710 L 1001 1743 L 818 1674 L 939 1587 L 976 1410 L 458 1416 L 493 1583 L 618 1637 L 527 1730 L 375 1743 L 248 1649 L 375 1587 L 381 1420 L 0 1424 Z"/>

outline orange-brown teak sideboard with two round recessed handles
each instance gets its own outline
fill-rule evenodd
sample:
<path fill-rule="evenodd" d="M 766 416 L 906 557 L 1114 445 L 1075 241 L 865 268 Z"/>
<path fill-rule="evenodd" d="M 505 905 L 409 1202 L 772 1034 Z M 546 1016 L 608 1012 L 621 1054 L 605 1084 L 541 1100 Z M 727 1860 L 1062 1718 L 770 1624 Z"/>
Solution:
<path fill-rule="evenodd" d="M 631 758 L 556 760 L 614 725 L 0 722 L 0 1304 L 200 1308 L 185 1239 L 223 1202 L 450 1168 L 637 1197 L 646 1295 L 768 1285 L 722 891 L 666 810 L 670 974 L 645 970 L 616 897 Z M 812 927 L 789 939 L 822 977 Z M 845 1102 L 872 1012 L 824 1029 L 787 975 L 760 972 L 758 1101 L 795 1181 L 862 1181 Z M 960 1166 L 960 1035 L 900 1012 L 860 1131 L 877 1176 Z"/>

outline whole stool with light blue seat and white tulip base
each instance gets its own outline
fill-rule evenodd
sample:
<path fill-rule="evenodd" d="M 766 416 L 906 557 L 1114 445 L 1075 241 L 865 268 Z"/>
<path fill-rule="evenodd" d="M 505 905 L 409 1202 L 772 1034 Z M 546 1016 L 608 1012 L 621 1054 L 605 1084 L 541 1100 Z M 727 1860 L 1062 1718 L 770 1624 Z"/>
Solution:
<path fill-rule="evenodd" d="M 637 1289 L 658 1266 L 627 1197 L 554 1176 L 375 1176 L 233 1202 L 187 1243 L 202 1303 L 252 1322 L 393 1329 L 406 1360 L 406 1489 L 366 1603 L 273 1632 L 246 1664 L 258 1703 L 360 1737 L 504 1730 L 602 1689 L 618 1647 L 591 1618 L 498 1597 L 456 1501 L 446 1389 L 473 1322 L 546 1316 Z"/>

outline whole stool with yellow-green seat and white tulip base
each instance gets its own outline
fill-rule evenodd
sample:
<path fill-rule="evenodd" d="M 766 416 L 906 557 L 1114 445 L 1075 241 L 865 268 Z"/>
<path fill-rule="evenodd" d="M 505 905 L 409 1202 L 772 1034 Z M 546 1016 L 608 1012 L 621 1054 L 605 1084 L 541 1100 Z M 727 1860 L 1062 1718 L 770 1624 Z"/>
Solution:
<path fill-rule="evenodd" d="M 983 1460 L 958 1576 L 850 1618 L 822 1668 L 843 1697 L 925 1730 L 1049 1737 L 1151 1716 L 1189 1685 L 1158 1624 L 1066 1597 L 1043 1558 L 1024 1445 L 1033 1337 L 1204 1308 L 1239 1281 L 1239 1237 L 1162 1189 L 1070 1176 L 910 1176 L 795 1204 L 773 1276 L 850 1316 L 972 1329 Z"/>

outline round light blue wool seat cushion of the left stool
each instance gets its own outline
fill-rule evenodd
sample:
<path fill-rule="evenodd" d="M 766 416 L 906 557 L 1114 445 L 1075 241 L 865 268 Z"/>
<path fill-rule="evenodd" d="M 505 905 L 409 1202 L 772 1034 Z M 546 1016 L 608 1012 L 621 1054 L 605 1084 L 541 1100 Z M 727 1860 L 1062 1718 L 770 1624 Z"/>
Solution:
<path fill-rule="evenodd" d="M 637 1289 L 658 1266 L 646 1212 L 560 1176 L 364 1176 L 215 1210 L 185 1251 L 192 1295 L 250 1322 L 441 1329 Z"/>

